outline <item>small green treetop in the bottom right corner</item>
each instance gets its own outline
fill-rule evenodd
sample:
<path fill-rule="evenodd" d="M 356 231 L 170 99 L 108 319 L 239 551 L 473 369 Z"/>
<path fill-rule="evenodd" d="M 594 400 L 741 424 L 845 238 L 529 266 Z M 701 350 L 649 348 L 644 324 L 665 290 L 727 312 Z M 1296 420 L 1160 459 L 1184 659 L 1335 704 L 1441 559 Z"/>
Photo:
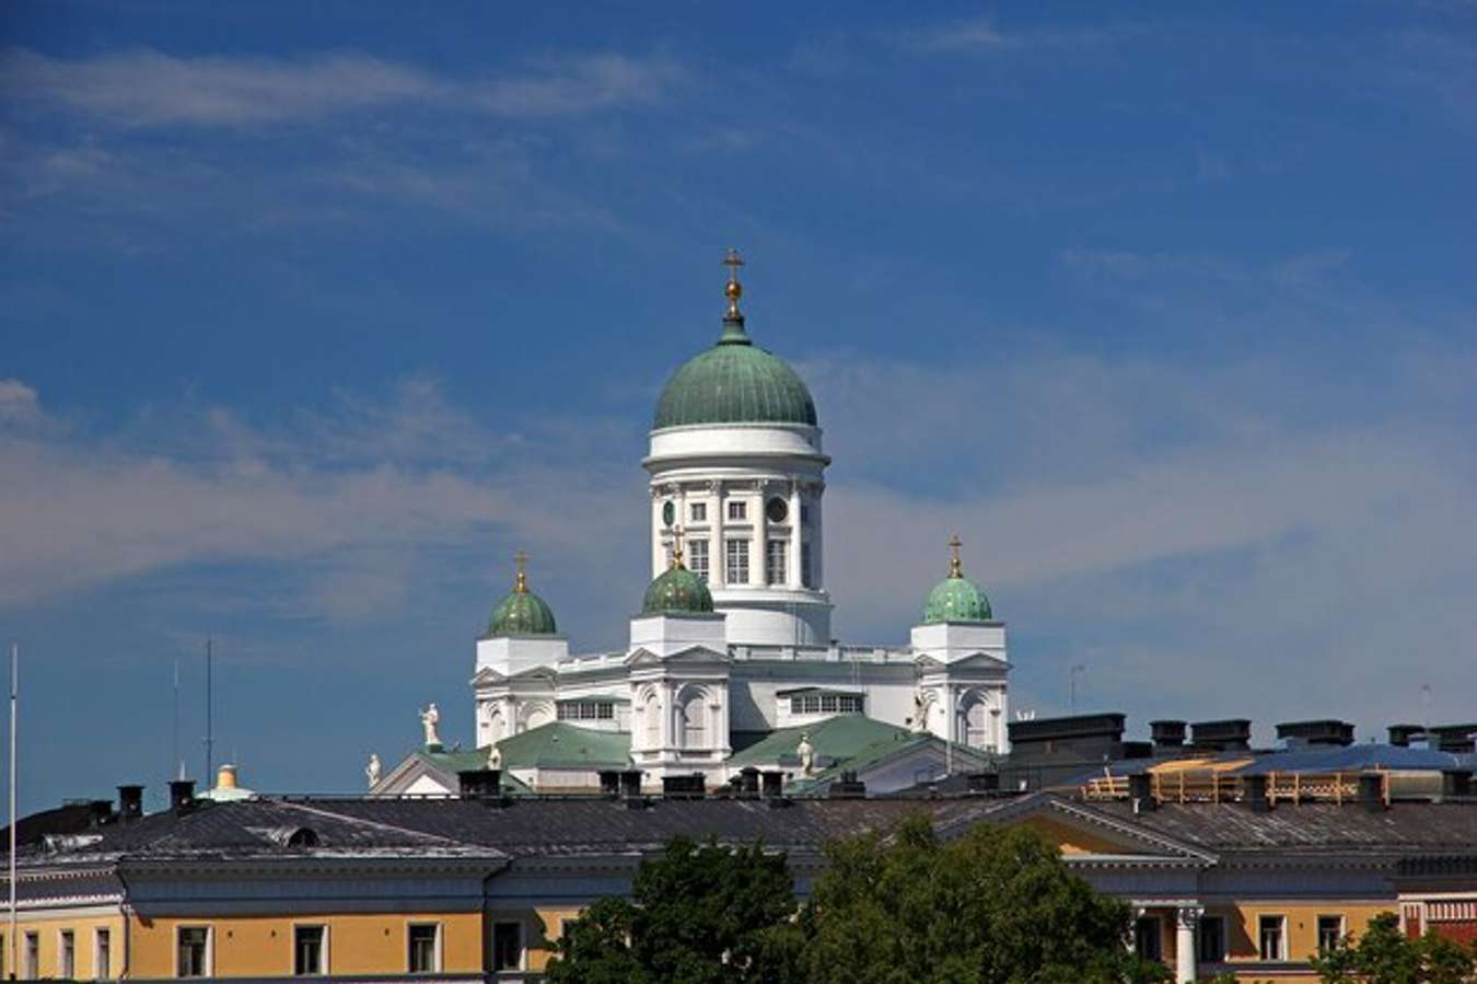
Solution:
<path fill-rule="evenodd" d="M 1313 969 L 1323 984 L 1467 984 L 1477 980 L 1477 950 L 1434 932 L 1412 940 L 1387 912 L 1357 941 L 1344 937 L 1315 957 Z"/>

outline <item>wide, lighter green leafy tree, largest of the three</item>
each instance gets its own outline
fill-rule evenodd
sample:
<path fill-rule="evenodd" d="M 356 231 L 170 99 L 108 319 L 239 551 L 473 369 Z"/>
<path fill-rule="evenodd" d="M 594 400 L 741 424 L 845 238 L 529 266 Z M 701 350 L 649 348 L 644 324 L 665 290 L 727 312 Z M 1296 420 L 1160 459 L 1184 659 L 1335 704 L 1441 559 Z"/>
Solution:
<path fill-rule="evenodd" d="M 923 817 L 891 839 L 833 842 L 802 913 L 812 984 L 1162 981 L 1127 950 L 1130 912 L 1034 832 L 981 826 L 941 842 Z"/>

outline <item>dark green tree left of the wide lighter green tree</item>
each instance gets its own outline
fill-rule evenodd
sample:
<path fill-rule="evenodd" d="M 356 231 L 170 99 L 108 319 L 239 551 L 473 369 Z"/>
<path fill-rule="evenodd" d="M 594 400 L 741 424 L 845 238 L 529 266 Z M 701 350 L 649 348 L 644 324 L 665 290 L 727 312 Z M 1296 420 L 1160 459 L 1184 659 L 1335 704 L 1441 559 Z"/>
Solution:
<path fill-rule="evenodd" d="M 795 888 L 783 854 L 674 838 L 631 900 L 564 923 L 551 984 L 799 984 Z"/>

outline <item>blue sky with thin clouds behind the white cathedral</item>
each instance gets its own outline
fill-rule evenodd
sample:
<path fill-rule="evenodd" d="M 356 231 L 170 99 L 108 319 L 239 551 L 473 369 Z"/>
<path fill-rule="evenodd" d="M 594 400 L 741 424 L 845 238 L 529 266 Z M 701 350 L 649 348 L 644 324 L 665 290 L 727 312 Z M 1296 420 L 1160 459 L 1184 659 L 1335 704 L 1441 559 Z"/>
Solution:
<path fill-rule="evenodd" d="M 535 4 L 536 6 L 536 4 Z M 0 632 L 24 804 L 354 789 L 526 547 L 644 588 L 645 426 L 749 259 L 836 623 L 959 529 L 1015 705 L 1471 715 L 1477 7 L 9 4 Z M 99 742 L 103 737 L 105 740 Z"/>

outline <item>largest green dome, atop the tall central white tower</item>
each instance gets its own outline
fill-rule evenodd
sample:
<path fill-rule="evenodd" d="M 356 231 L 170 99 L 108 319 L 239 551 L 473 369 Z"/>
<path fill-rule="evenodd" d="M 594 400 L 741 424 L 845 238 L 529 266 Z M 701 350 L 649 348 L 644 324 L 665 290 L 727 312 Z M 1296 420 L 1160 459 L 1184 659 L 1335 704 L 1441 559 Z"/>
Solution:
<path fill-rule="evenodd" d="M 758 347 L 743 318 L 725 318 L 724 334 L 668 380 L 653 430 L 690 424 L 815 424 L 815 400 L 778 356 Z"/>

